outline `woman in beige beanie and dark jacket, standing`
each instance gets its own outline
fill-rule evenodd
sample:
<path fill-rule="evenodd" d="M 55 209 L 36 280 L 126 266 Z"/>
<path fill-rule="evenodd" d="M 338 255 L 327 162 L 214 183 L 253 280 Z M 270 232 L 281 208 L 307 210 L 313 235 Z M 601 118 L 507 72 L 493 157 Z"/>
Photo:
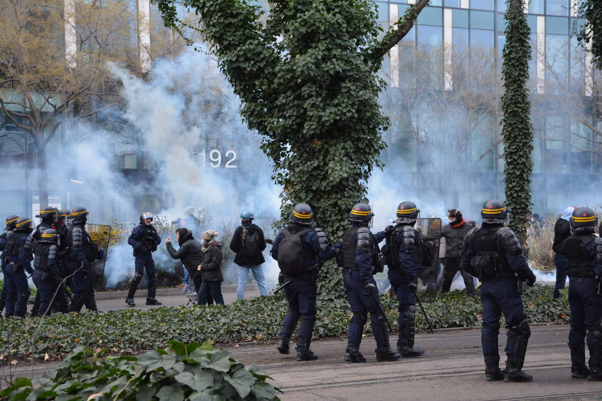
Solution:
<path fill-rule="evenodd" d="M 216 304 L 224 304 L 222 296 L 222 245 L 216 240 L 219 236 L 214 230 L 207 230 L 203 233 L 203 263 L 197 269 L 202 272 L 203 284 L 200 286 L 199 295 L 197 297 L 198 304 L 205 304 L 206 287 L 209 286 L 211 294 Z"/>

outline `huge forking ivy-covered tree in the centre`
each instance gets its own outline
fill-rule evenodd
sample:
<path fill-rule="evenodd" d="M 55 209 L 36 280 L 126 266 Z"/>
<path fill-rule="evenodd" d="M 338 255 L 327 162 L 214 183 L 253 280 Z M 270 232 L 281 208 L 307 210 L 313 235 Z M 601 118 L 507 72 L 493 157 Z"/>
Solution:
<path fill-rule="evenodd" d="M 154 1 L 166 26 L 181 31 L 172 1 Z M 335 242 L 349 227 L 353 203 L 368 201 L 366 184 L 382 167 L 380 134 L 389 124 L 377 102 L 385 86 L 377 72 L 427 2 L 412 6 L 382 39 L 370 0 L 277 0 L 265 23 L 246 1 L 182 2 L 201 16 L 203 37 L 243 101 L 241 115 L 264 137 L 273 179 L 284 188 L 282 219 L 293 204 L 309 203 Z M 342 281 L 340 269 L 326 265 L 321 300 L 342 304 Z"/>

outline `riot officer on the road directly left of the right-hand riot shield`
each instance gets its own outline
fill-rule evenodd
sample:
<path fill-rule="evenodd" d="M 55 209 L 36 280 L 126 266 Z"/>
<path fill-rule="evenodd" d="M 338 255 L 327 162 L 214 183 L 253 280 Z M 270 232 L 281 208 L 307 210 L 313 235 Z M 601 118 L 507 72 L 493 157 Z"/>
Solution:
<path fill-rule="evenodd" d="M 385 253 L 389 266 L 388 276 L 399 300 L 399 339 L 397 352 L 403 358 L 420 357 L 424 348 L 414 346 L 415 294 L 418 289 L 416 271 L 424 259 L 423 242 L 414 225 L 420 209 L 414 202 L 402 202 L 397 206 L 396 225 L 385 228 L 386 243 L 391 246 Z"/>

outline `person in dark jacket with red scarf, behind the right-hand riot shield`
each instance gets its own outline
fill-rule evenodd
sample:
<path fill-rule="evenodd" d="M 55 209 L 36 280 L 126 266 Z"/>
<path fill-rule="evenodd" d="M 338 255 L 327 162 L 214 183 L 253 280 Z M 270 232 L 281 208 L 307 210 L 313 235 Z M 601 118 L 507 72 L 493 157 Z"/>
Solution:
<path fill-rule="evenodd" d="M 462 213 L 458 209 L 447 210 L 447 221 L 449 224 L 441 228 L 441 237 L 445 238 L 445 259 L 443 263 L 443 281 L 441 283 L 441 292 L 449 292 L 452 287 L 452 281 L 459 271 L 464 278 L 466 293 L 468 296 L 476 296 L 473 277 L 466 271 L 460 269 L 460 260 L 462 259 L 462 242 L 464 237 L 473 228 L 462 218 Z M 423 236 L 424 240 L 434 239 L 434 236 Z"/>

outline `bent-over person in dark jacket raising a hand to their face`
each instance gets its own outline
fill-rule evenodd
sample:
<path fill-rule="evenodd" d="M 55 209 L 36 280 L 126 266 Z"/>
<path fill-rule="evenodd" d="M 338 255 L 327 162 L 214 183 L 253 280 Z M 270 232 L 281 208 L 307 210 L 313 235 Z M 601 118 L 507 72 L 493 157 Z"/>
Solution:
<path fill-rule="evenodd" d="M 197 266 L 203 263 L 205 254 L 203 253 L 203 245 L 198 240 L 194 239 L 192 231 L 187 228 L 178 228 L 176 230 L 176 240 L 178 240 L 179 248 L 173 248 L 172 239 L 167 238 L 167 251 L 173 259 L 181 259 L 184 268 L 187 269 L 194 285 L 194 292 L 199 293 L 200 285 L 203 282 L 203 274 L 197 269 Z M 213 296 L 211 289 L 206 289 L 207 304 L 213 304 Z"/>

